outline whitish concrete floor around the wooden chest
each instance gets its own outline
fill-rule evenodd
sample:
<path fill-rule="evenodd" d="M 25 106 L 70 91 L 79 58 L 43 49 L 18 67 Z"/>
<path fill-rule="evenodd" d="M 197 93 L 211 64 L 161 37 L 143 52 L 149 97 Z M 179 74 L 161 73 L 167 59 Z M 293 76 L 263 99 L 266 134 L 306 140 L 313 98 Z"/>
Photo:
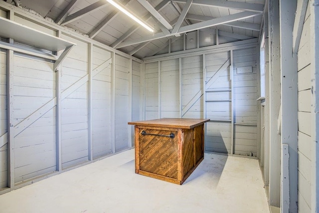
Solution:
<path fill-rule="evenodd" d="M 135 174 L 134 149 L 0 196 L 0 213 L 269 213 L 258 161 L 205 154 L 183 185 Z"/>

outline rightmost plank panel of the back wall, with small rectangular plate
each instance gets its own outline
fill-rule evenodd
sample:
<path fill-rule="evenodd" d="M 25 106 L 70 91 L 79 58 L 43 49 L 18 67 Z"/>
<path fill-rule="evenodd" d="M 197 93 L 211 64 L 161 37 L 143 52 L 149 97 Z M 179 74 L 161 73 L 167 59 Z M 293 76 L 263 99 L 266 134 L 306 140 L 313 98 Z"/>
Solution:
<path fill-rule="evenodd" d="M 234 50 L 234 153 L 257 156 L 256 48 Z M 240 74 L 239 67 L 251 72 Z M 252 126 L 246 126 L 252 125 Z"/>

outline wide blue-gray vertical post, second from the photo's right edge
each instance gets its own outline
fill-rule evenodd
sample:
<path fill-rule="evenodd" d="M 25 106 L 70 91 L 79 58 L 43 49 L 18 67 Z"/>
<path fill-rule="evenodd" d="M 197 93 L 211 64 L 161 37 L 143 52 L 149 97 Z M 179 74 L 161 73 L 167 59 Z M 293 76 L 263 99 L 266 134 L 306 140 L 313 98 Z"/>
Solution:
<path fill-rule="evenodd" d="M 280 0 L 280 70 L 281 70 L 281 143 L 289 146 L 288 189 L 285 182 L 281 186 L 281 208 L 283 212 L 298 212 L 298 68 L 297 54 L 293 52 L 294 18 L 296 1 Z M 284 169 L 285 159 L 281 161 Z M 284 200 L 284 198 L 289 200 Z"/>

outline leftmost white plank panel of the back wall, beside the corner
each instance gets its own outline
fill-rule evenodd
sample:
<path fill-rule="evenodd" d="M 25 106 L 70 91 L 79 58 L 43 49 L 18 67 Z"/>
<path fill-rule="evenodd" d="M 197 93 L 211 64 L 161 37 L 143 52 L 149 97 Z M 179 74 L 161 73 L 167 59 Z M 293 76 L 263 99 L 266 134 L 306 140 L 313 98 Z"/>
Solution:
<path fill-rule="evenodd" d="M 159 118 L 159 63 L 145 64 L 145 120 Z"/>

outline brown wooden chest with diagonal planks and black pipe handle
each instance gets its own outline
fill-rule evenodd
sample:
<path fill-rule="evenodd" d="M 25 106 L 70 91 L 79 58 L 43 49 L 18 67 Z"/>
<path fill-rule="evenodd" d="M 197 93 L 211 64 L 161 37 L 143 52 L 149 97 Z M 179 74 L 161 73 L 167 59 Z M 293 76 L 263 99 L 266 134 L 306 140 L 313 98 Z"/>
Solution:
<path fill-rule="evenodd" d="M 161 118 L 135 125 L 135 172 L 182 184 L 204 159 L 209 119 Z"/>

